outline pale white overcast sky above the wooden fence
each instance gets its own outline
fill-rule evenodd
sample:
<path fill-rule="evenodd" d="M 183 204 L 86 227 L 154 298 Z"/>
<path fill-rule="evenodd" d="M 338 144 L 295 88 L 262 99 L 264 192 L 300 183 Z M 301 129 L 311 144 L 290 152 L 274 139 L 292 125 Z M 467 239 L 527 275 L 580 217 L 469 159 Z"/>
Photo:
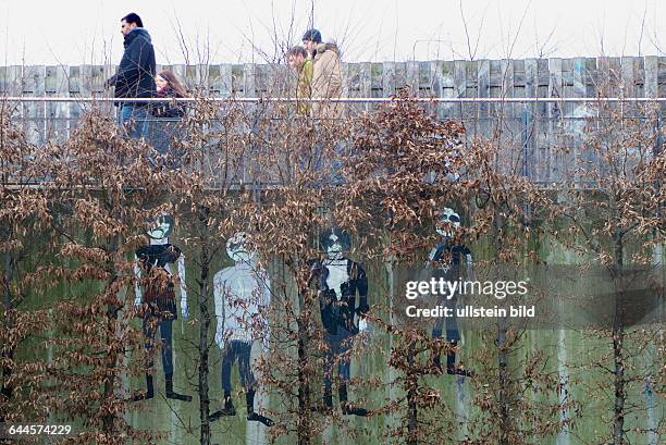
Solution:
<path fill-rule="evenodd" d="M 118 63 L 120 18 L 128 12 L 144 20 L 158 63 L 272 61 L 297 44 L 312 21 L 324 40 L 340 44 L 349 62 L 664 55 L 666 21 L 657 17 L 666 16 L 665 3 L 0 0 L 0 64 Z"/>

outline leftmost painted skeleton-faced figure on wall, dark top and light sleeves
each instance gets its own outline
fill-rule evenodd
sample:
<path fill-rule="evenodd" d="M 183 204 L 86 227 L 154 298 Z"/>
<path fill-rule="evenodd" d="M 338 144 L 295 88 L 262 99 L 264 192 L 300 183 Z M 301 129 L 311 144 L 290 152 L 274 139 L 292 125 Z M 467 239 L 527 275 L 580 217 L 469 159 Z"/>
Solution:
<path fill-rule="evenodd" d="M 174 225 L 172 215 L 162 214 L 147 235 L 150 244 L 136 251 L 135 274 L 139 280 L 135 286 L 135 306 L 140 309 L 146 336 L 144 347 L 149 357 L 146 368 L 152 368 L 151 350 L 155 347 L 157 331 L 162 343 L 162 369 L 164 371 L 165 396 L 176 400 L 190 401 L 192 396 L 173 391 L 173 321 L 177 319 L 175 283 L 170 264 L 177 265 L 181 292 L 181 312 L 187 319 L 187 292 L 185 288 L 185 256 L 181 249 L 169 242 Z M 152 375 L 146 374 L 146 393 L 137 393 L 134 400 L 152 398 L 155 395 Z"/>

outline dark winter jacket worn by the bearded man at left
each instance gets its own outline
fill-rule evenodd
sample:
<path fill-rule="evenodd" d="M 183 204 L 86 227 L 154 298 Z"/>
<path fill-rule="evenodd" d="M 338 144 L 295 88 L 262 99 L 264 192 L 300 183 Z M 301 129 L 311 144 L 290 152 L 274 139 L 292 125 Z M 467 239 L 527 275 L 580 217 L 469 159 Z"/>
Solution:
<path fill-rule="evenodd" d="M 118 72 L 107 83 L 115 86 L 118 98 L 155 97 L 155 49 L 150 35 L 144 28 L 134 28 L 125 36 L 124 46 Z"/>

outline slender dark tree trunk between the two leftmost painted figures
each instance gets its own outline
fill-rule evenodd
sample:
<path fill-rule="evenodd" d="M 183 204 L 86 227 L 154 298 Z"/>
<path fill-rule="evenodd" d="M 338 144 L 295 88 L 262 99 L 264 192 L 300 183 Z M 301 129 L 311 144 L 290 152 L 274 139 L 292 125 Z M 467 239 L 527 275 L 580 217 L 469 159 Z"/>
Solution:
<path fill-rule="evenodd" d="M 201 273 L 199 275 L 199 419 L 201 421 L 201 431 L 199 443 L 201 445 L 210 445 L 210 422 L 208 416 L 210 413 L 210 399 L 208 396 L 208 361 L 209 361 L 209 341 L 208 330 L 210 327 L 210 311 L 208 310 L 208 275 L 210 272 L 210 254 L 208 251 L 208 209 L 201 209 L 199 221 L 201 222 Z"/>

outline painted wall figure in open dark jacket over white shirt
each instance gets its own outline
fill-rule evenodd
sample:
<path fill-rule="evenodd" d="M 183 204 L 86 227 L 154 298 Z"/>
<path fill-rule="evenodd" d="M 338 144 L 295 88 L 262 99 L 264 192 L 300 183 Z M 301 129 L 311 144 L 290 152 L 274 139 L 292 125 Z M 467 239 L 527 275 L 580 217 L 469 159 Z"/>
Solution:
<path fill-rule="evenodd" d="M 323 261 L 310 261 L 310 283 L 319 298 L 319 309 L 324 329 L 326 356 L 324 361 L 324 407 L 333 407 L 332 368 L 337 361 L 338 398 L 344 415 L 367 416 L 365 408 L 348 403 L 347 385 L 350 379 L 350 360 L 341 358 L 351 347 L 354 335 L 367 329 L 368 277 L 358 262 L 347 258 L 349 235 L 340 227 L 323 231 L 320 247 L 325 251 Z M 358 296 L 358 307 L 356 306 Z M 358 322 L 355 320 L 358 318 Z"/>

